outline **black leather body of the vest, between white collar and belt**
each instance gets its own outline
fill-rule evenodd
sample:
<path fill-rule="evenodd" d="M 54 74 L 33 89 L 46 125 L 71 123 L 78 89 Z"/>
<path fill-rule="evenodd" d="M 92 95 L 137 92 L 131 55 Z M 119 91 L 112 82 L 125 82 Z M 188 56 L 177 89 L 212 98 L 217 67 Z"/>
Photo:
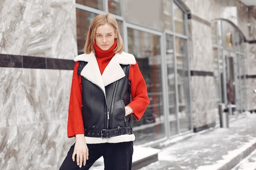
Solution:
<path fill-rule="evenodd" d="M 77 74 L 80 75 L 87 62 L 79 61 Z M 105 86 L 103 90 L 96 84 L 81 76 L 83 87 L 83 125 L 87 130 L 114 129 L 131 127 L 131 115 L 125 117 L 125 106 L 130 103 L 130 65 L 120 64 L 125 77 Z M 132 130 L 131 130 L 132 131 Z"/>

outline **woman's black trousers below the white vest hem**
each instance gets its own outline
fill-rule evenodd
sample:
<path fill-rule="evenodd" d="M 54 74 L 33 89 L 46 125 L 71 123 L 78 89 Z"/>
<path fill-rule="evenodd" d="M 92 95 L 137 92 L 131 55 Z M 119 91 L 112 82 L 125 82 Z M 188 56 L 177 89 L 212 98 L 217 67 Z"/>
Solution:
<path fill-rule="evenodd" d="M 121 142 L 116 144 L 87 144 L 89 157 L 85 166 L 79 168 L 76 160 L 72 160 L 74 145 L 70 147 L 67 157 L 63 161 L 60 170 L 89 170 L 97 159 L 103 156 L 104 170 L 131 170 L 133 142 Z"/>

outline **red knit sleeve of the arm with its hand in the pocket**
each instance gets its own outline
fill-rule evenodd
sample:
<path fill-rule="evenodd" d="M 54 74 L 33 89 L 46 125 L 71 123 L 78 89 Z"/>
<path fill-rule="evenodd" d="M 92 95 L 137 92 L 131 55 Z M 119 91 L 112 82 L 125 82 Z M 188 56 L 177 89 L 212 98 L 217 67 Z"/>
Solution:
<path fill-rule="evenodd" d="M 146 82 L 139 70 L 137 62 L 130 67 L 129 79 L 131 81 L 132 101 L 128 106 L 133 110 L 132 116 L 135 117 L 136 120 L 139 120 L 149 104 L 149 99 Z"/>

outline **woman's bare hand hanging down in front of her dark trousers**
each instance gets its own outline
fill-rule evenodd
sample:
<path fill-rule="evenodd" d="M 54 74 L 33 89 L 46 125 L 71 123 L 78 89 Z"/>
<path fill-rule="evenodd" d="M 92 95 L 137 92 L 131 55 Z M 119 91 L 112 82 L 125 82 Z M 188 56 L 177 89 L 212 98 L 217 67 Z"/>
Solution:
<path fill-rule="evenodd" d="M 72 154 L 73 161 L 75 161 L 75 155 L 77 166 L 79 166 L 79 168 L 81 168 L 82 165 L 85 166 L 86 160 L 88 160 L 89 157 L 89 149 L 85 143 L 85 137 L 83 134 L 76 135 L 76 144 Z"/>

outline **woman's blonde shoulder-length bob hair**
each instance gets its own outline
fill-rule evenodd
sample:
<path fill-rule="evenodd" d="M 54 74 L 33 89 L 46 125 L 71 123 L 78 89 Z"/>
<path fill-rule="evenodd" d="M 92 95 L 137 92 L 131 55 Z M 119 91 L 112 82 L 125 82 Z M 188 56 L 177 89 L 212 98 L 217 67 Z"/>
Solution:
<path fill-rule="evenodd" d="M 92 20 L 92 24 L 87 33 L 86 42 L 84 46 L 84 52 L 89 54 L 91 52 L 95 53 L 94 43 L 95 43 L 95 32 L 98 26 L 108 24 L 115 29 L 115 33 L 117 33 L 117 47 L 114 49 L 115 53 L 121 53 L 124 50 L 124 43 L 119 33 L 117 20 L 110 14 L 98 14 Z"/>

